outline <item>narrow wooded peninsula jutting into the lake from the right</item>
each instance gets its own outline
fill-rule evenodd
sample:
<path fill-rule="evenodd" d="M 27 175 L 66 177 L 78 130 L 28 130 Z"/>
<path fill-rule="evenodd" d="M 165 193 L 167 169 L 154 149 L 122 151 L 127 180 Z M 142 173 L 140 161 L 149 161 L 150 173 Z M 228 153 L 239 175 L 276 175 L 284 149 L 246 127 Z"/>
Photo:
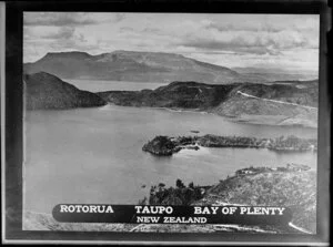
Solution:
<path fill-rule="evenodd" d="M 241 136 L 155 136 L 143 145 L 142 150 L 159 156 L 172 155 L 183 148 L 200 150 L 204 147 L 251 147 L 272 151 L 305 152 L 316 151 L 316 140 L 299 138 L 296 136 L 280 136 L 278 138 L 256 138 Z"/>

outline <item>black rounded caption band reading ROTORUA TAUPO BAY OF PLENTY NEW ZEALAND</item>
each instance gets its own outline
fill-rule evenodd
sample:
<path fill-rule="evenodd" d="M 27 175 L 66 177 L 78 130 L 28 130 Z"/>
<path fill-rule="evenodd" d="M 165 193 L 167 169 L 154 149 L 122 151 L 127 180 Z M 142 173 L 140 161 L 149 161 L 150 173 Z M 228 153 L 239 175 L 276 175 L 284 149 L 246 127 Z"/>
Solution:
<path fill-rule="evenodd" d="M 286 225 L 292 214 L 278 206 L 153 206 L 58 204 L 52 212 L 62 223 L 244 224 Z"/>

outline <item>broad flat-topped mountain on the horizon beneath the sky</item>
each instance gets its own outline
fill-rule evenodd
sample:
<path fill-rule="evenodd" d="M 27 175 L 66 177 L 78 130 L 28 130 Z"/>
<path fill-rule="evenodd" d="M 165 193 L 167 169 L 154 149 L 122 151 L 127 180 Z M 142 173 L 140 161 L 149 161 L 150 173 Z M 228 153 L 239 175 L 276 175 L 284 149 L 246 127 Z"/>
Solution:
<path fill-rule="evenodd" d="M 199 81 L 210 84 L 265 81 L 174 53 L 114 51 L 99 55 L 85 52 L 48 53 L 24 64 L 24 73 L 44 71 L 61 79 L 133 82 Z"/>

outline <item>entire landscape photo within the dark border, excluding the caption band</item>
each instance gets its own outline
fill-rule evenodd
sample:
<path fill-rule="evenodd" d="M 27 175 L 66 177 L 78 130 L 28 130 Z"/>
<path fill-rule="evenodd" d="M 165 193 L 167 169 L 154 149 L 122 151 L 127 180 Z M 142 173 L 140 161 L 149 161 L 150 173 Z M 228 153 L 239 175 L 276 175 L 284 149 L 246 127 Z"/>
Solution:
<path fill-rule="evenodd" d="M 26 11 L 22 29 L 23 230 L 317 233 L 319 14 Z M 78 223 L 59 204 L 292 216 Z"/>

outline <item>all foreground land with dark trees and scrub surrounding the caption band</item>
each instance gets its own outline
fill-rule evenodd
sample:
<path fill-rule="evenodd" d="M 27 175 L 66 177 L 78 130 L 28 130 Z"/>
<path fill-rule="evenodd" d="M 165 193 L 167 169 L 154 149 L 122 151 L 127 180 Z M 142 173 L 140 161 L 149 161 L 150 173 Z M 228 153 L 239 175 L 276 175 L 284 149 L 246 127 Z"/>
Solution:
<path fill-rule="evenodd" d="M 82 224 L 58 223 L 48 214 L 26 212 L 23 229 L 30 230 L 94 230 L 153 233 L 260 233 L 286 234 L 316 231 L 316 172 L 304 165 L 285 167 L 248 167 L 211 186 L 178 179 L 174 187 L 163 183 L 152 186 L 149 198 L 141 205 L 201 205 L 201 206 L 283 206 L 292 210 L 292 226 L 248 225 L 169 225 L 169 224 Z"/>

